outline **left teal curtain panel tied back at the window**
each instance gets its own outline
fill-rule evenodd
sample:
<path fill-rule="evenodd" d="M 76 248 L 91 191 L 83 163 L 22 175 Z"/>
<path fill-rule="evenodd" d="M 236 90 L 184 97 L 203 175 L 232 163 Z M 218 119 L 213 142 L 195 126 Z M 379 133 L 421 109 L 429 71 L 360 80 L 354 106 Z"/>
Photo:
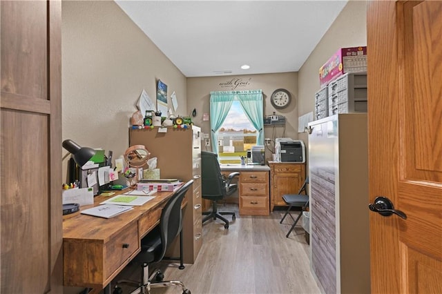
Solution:
<path fill-rule="evenodd" d="M 235 96 L 229 91 L 210 92 L 210 130 L 212 151 L 218 154 L 218 130 L 229 114 Z"/>

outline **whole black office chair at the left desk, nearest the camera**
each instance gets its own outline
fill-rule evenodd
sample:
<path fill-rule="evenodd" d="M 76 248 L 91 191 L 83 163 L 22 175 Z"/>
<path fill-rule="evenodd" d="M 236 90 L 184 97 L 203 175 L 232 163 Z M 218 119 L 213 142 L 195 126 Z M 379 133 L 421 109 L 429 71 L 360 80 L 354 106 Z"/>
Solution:
<path fill-rule="evenodd" d="M 163 281 L 164 275 L 160 270 L 155 270 L 151 277 L 149 277 L 148 265 L 153 264 L 154 262 L 160 262 L 160 260 L 163 259 L 169 244 L 171 244 L 175 237 L 180 234 L 182 230 L 182 199 L 192 184 L 193 179 L 186 182 L 186 184 L 175 192 L 162 210 L 160 224 L 142 239 L 141 252 L 133 259 L 134 262 L 139 262 L 142 265 L 142 282 L 120 280 L 117 282 L 113 294 L 122 294 L 122 288 L 120 288 L 118 284 L 139 286 L 131 293 L 146 294 L 150 293 L 151 288 L 180 286 L 183 294 L 191 294 L 191 291 L 189 291 L 189 289 L 187 289 L 180 281 Z M 156 281 L 152 282 L 154 277 Z"/>

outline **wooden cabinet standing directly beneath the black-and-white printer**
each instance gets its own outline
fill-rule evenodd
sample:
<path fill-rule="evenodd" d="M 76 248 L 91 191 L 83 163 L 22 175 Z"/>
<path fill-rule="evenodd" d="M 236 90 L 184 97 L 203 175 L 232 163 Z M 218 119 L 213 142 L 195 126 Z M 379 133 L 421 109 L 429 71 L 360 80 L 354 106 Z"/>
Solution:
<path fill-rule="evenodd" d="M 270 210 L 287 206 L 282 195 L 296 194 L 305 181 L 305 164 L 270 161 Z"/>

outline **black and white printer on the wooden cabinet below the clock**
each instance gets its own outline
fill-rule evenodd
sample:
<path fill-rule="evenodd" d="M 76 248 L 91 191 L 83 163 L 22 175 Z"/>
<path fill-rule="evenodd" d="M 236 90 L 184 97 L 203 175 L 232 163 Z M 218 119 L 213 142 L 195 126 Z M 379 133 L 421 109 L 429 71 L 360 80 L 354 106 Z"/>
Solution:
<path fill-rule="evenodd" d="M 291 138 L 275 139 L 276 161 L 305 162 L 305 145 L 301 140 Z"/>

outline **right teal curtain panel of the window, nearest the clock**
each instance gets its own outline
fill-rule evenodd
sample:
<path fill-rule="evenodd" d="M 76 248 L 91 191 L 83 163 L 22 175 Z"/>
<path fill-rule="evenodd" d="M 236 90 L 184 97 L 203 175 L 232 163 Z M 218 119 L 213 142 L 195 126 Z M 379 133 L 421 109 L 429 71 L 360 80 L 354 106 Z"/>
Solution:
<path fill-rule="evenodd" d="M 240 101 L 245 115 L 256 130 L 258 130 L 256 145 L 264 145 L 264 110 L 262 110 L 262 91 L 238 91 L 236 97 Z"/>

